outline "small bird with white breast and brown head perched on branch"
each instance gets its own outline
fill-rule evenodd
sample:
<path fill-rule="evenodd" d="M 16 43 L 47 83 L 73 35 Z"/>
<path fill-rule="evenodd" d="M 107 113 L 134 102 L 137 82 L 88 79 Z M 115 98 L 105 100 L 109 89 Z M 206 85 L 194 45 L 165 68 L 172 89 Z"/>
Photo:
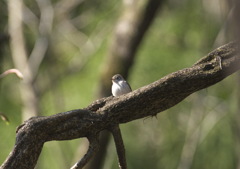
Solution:
<path fill-rule="evenodd" d="M 131 86 L 120 74 L 112 77 L 112 95 L 114 97 L 131 92 Z"/>

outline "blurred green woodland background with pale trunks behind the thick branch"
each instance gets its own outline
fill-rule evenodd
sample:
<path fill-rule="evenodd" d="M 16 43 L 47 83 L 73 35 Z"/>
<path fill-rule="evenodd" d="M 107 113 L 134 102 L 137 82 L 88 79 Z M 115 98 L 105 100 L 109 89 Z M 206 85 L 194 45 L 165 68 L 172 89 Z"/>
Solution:
<path fill-rule="evenodd" d="M 231 41 L 230 0 L 2 0 L 0 164 L 16 127 L 32 116 L 84 108 L 110 96 L 111 76 L 132 89 L 190 67 Z M 235 24 L 236 25 L 236 24 Z M 196 92 L 175 107 L 122 124 L 129 168 L 240 169 L 239 73 Z M 116 169 L 111 136 L 86 169 Z M 36 168 L 70 168 L 86 139 L 44 144 Z"/>

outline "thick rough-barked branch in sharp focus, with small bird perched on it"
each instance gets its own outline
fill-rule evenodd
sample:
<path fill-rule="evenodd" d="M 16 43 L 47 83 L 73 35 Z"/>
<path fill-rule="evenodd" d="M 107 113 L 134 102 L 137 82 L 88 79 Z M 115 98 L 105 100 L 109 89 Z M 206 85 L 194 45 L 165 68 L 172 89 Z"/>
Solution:
<path fill-rule="evenodd" d="M 222 68 L 217 57 L 221 58 Z M 231 42 L 192 67 L 171 73 L 126 95 L 102 98 L 85 109 L 31 118 L 19 126 L 14 149 L 0 169 L 33 169 L 47 141 L 97 137 L 113 124 L 156 115 L 239 69 L 238 43 Z"/>

